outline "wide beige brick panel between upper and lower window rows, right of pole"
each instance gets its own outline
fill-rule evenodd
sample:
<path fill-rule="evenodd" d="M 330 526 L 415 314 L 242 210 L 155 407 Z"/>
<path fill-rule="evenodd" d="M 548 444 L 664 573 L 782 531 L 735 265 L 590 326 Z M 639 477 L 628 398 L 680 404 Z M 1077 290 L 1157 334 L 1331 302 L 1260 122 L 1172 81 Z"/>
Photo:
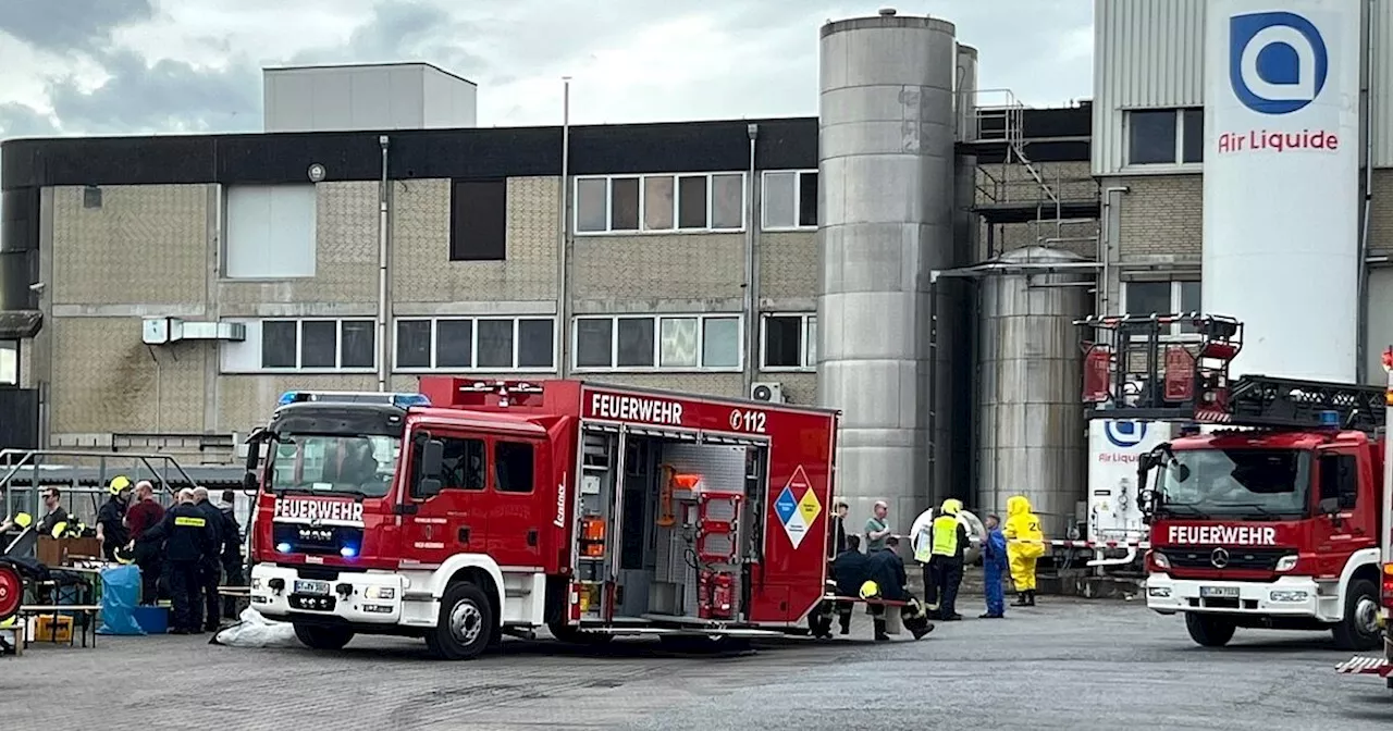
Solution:
<path fill-rule="evenodd" d="M 578 235 L 577 299 L 742 298 L 745 234 Z"/>

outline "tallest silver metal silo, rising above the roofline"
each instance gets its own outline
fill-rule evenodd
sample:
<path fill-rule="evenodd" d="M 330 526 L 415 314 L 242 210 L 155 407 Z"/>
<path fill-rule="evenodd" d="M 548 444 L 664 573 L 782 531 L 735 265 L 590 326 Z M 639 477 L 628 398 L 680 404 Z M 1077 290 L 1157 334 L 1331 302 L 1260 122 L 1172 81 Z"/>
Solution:
<path fill-rule="evenodd" d="M 953 266 L 956 60 L 942 19 L 882 10 L 822 26 L 818 400 L 844 414 L 837 490 L 857 528 L 886 500 L 904 532 L 943 492 L 929 277 Z"/>

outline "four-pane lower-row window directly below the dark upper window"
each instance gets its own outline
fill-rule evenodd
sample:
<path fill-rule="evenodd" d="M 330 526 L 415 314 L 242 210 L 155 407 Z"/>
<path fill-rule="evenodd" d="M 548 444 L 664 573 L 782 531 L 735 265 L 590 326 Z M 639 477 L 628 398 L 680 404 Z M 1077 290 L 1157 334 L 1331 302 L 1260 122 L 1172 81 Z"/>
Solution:
<path fill-rule="evenodd" d="M 553 317 L 398 317 L 397 370 L 556 370 Z"/>

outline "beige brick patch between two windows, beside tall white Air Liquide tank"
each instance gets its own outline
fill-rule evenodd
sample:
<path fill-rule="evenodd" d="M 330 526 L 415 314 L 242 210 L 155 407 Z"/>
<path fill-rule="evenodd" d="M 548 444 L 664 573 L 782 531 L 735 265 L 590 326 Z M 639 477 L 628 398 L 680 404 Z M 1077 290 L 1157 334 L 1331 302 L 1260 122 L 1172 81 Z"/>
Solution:
<path fill-rule="evenodd" d="M 1117 256 L 1201 255 L 1204 241 L 1202 175 L 1137 175 L 1119 178 L 1128 188 L 1119 209 Z"/>

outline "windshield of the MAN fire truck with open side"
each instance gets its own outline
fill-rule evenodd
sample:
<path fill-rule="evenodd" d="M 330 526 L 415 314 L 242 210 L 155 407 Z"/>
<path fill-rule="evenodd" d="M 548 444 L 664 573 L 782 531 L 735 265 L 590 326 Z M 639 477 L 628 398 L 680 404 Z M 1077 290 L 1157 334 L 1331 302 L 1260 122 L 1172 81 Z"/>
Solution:
<path fill-rule="evenodd" d="M 401 440 L 369 434 L 279 434 L 270 450 L 272 493 L 306 492 L 386 497 Z"/>

